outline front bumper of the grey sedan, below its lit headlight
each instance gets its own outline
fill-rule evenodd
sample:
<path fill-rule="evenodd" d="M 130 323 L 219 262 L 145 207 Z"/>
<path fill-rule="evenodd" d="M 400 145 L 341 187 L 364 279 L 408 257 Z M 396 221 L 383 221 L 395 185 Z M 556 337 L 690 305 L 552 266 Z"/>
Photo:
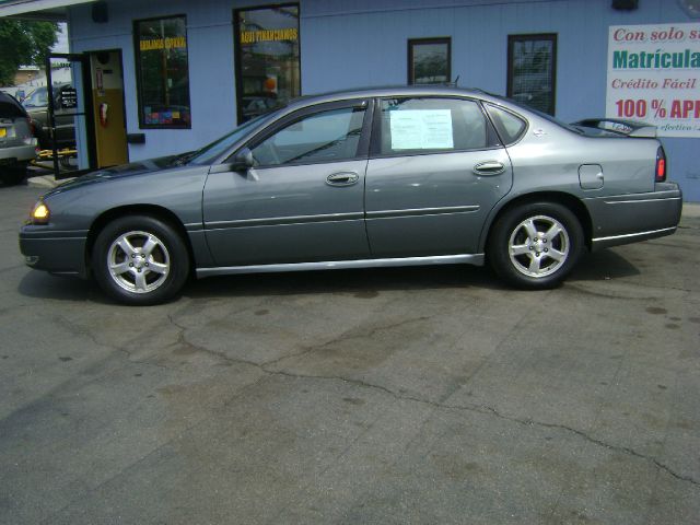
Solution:
<path fill-rule="evenodd" d="M 27 266 L 50 273 L 86 278 L 88 232 L 47 231 L 46 226 L 25 225 L 20 231 L 20 252 Z"/>

